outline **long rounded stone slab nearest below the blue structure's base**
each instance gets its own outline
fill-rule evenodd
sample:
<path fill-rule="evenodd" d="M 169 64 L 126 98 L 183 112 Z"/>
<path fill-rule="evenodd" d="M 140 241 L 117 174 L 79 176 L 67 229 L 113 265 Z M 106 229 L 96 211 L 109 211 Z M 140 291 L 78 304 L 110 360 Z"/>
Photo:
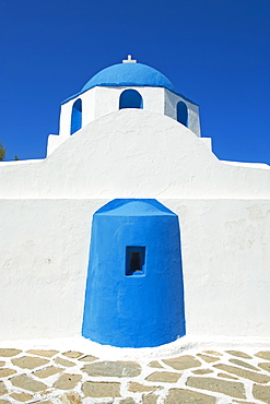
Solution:
<path fill-rule="evenodd" d="M 98 361 L 85 365 L 82 371 L 96 377 L 134 378 L 141 373 L 141 367 L 134 361 Z"/>

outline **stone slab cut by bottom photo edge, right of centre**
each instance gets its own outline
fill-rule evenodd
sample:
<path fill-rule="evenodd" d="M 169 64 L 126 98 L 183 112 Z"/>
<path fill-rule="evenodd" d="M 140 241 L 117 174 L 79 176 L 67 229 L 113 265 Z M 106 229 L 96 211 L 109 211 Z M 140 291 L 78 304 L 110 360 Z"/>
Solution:
<path fill-rule="evenodd" d="M 185 389 L 171 389 L 164 404 L 215 404 L 210 395 Z"/>

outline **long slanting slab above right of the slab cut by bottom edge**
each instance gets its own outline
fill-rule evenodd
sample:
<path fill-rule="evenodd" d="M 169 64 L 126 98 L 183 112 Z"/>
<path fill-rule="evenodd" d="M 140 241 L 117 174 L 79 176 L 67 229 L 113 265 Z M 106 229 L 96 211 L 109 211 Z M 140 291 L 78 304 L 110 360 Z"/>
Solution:
<path fill-rule="evenodd" d="M 187 379 L 186 384 L 195 389 L 213 391 L 237 399 L 246 399 L 245 387 L 240 382 L 191 376 Z"/>

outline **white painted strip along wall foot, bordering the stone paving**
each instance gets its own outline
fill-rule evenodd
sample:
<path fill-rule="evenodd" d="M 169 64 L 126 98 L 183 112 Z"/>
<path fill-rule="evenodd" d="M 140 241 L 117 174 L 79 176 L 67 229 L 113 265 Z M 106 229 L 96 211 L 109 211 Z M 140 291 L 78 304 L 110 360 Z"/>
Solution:
<path fill-rule="evenodd" d="M 117 348 L 109 345 L 101 345 L 85 340 L 83 336 L 73 338 L 48 338 L 48 340 L 20 340 L 2 341 L 0 348 L 16 349 L 58 349 L 60 352 L 78 350 L 86 355 L 97 356 L 106 360 L 143 360 L 164 359 L 175 357 L 183 353 L 192 350 L 227 350 L 239 349 L 253 354 L 255 350 L 270 349 L 270 338 L 250 337 L 206 337 L 206 336 L 184 336 L 171 344 L 161 345 L 154 348 Z"/>

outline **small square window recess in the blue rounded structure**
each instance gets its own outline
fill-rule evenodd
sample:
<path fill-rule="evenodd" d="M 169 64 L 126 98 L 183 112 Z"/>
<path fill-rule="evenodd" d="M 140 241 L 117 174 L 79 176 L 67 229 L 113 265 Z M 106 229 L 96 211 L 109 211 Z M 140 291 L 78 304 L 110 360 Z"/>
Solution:
<path fill-rule="evenodd" d="M 126 248 L 126 275 L 144 274 L 145 247 Z"/>

